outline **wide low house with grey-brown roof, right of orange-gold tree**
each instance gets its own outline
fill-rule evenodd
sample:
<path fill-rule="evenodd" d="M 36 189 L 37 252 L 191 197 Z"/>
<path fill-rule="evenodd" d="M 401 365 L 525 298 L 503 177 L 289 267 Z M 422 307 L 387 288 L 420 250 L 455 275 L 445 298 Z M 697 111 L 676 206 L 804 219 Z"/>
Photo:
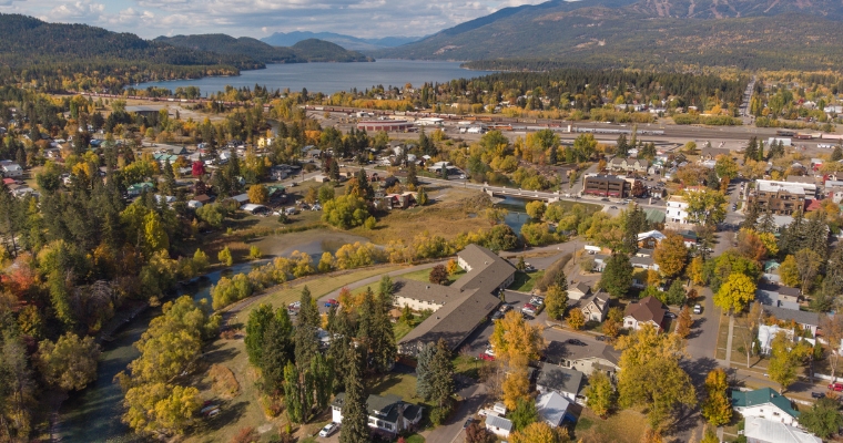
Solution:
<path fill-rule="evenodd" d="M 545 349 L 546 362 L 576 369 L 586 375 L 601 371 L 610 378 L 615 378 L 615 374 L 620 370 L 619 359 L 620 352 L 606 343 L 580 347 L 561 341 L 550 341 Z"/>

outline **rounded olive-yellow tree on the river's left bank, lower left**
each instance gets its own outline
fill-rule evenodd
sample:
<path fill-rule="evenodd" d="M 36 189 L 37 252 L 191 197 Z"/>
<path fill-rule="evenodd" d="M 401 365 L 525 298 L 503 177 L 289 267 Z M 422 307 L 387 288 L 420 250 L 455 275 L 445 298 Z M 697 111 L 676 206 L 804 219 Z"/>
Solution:
<path fill-rule="evenodd" d="M 68 332 L 53 343 L 44 340 L 38 347 L 38 365 L 48 384 L 64 391 L 82 390 L 97 380 L 100 347 L 93 337 L 80 339 Z"/>

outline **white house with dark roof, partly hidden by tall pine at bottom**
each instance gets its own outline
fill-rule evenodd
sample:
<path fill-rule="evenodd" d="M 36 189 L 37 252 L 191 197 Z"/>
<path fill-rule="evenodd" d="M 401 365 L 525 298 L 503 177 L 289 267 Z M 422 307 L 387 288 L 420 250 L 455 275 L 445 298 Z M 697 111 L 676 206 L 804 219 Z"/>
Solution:
<path fill-rule="evenodd" d="M 332 420 L 334 423 L 343 422 L 343 406 L 345 403 L 345 392 L 336 394 L 331 403 Z M 366 399 L 366 411 L 368 412 L 368 425 L 373 430 L 387 434 L 398 434 L 405 430 L 413 430 L 422 420 L 420 408 L 402 401 L 398 395 L 388 394 L 385 396 L 369 395 Z"/>

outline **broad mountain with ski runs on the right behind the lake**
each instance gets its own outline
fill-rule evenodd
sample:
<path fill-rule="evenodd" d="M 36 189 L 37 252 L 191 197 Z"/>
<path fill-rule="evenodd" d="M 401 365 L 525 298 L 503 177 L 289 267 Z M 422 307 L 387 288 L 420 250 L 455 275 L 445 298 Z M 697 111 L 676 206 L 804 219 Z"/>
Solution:
<path fill-rule="evenodd" d="M 836 70 L 841 20 L 841 0 L 552 0 L 505 8 L 370 54 L 505 70 Z"/>

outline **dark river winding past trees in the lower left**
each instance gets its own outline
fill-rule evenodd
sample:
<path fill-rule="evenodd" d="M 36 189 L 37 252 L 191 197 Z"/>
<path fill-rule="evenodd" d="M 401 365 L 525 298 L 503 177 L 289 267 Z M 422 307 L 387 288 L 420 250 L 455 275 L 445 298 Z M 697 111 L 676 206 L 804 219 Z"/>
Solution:
<path fill-rule="evenodd" d="M 221 277 L 248 272 L 252 267 L 266 262 L 252 261 L 235 265 L 231 268 L 210 272 L 197 278 L 180 291 L 180 295 L 192 293 L 194 300 L 206 299 L 211 303 L 211 286 Z M 143 311 L 112 337 L 113 341 L 103 342 L 102 358 L 97 368 L 97 381 L 81 392 L 70 394 L 61 408 L 61 441 L 67 443 L 89 442 L 130 442 L 135 437 L 129 426 L 120 421 L 123 413 L 121 402 L 123 392 L 112 380 L 114 375 L 126 369 L 126 365 L 140 356 L 132 346 L 140 340 L 141 334 L 149 328 L 150 321 L 161 313 L 161 308 Z"/>

